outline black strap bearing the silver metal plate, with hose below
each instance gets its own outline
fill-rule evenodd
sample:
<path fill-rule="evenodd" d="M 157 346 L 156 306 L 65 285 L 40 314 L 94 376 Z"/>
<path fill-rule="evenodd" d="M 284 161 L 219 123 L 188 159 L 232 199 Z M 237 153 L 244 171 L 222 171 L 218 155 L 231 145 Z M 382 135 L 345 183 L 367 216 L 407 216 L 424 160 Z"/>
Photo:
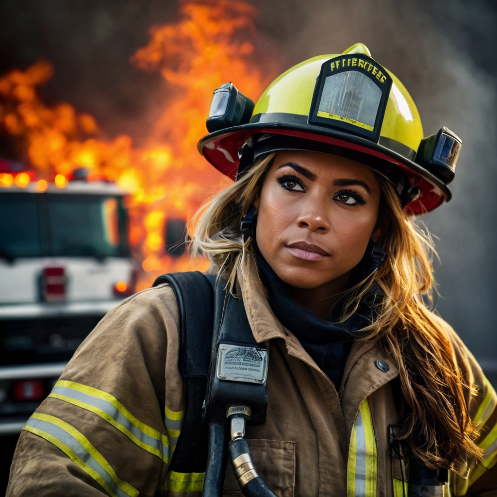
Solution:
<path fill-rule="evenodd" d="M 229 352 L 226 352 L 227 350 Z M 251 409 L 248 424 L 263 424 L 266 420 L 268 403 L 266 379 L 257 382 L 252 382 L 247 377 L 242 379 L 244 371 L 248 369 L 254 371 L 263 369 L 263 357 L 267 360 L 267 351 L 260 349 L 253 336 L 243 299 L 225 290 L 223 281 L 219 281 L 214 290 L 212 358 L 203 410 L 203 418 L 209 422 L 209 452 L 203 497 L 221 497 L 223 494 L 228 460 L 227 448 L 230 440 L 227 407 L 233 403 L 248 406 Z M 228 371 L 233 373 L 230 375 L 231 379 L 227 377 Z M 248 453 L 244 456 L 248 456 Z M 261 482 L 263 491 L 252 495 L 276 497 L 259 476 L 245 486 L 244 495 L 249 495 L 250 492 L 247 494 L 247 491 L 250 489 L 260 490 Z M 266 490 L 268 492 L 265 492 Z"/>

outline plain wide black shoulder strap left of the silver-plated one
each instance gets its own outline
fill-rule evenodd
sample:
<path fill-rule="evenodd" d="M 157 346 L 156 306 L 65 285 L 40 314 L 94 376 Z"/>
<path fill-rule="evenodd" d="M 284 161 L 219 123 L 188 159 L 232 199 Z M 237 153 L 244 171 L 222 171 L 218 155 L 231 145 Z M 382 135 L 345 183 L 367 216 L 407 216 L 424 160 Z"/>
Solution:
<path fill-rule="evenodd" d="M 169 283 L 179 312 L 179 372 L 184 380 L 185 405 L 181 432 L 169 471 L 203 473 L 207 465 L 208 427 L 202 422 L 207 388 L 216 277 L 198 271 L 163 274 L 153 286 Z"/>

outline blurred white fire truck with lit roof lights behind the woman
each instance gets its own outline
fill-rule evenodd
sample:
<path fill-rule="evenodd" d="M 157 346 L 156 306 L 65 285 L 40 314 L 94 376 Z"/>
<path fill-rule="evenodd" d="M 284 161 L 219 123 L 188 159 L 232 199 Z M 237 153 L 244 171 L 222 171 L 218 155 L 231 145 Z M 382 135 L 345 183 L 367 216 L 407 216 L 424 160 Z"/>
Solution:
<path fill-rule="evenodd" d="M 86 335 L 133 293 L 136 277 L 125 192 L 115 184 L 83 178 L 16 186 L 5 177 L 0 435 L 20 432 Z"/>

